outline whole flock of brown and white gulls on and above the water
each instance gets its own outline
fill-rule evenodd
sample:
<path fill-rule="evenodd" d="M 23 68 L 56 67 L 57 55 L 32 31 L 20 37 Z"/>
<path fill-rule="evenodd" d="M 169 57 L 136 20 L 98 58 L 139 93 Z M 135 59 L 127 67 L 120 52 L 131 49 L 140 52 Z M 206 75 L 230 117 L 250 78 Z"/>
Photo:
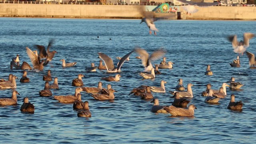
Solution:
<path fill-rule="evenodd" d="M 142 18 L 142 22 L 146 22 L 147 25 L 149 24 L 148 22 L 150 22 L 150 20 L 152 19 L 148 17 Z M 153 22 L 150 24 L 151 25 L 148 25 L 149 28 L 151 28 L 151 26 L 154 25 Z M 153 27 L 155 28 L 155 26 Z M 246 48 L 249 47 L 249 40 L 254 36 L 255 35 L 252 33 L 244 33 L 244 39 L 241 41 L 237 40 L 236 35 L 232 35 L 227 38 L 227 40 L 229 40 L 232 43 L 232 47 L 234 48 L 235 53 L 240 55 L 246 52 L 251 68 L 256 68 L 256 60 L 254 54 L 246 51 Z M 47 49 L 44 46 L 35 45 L 36 50 L 32 51 L 30 48 L 26 47 L 26 52 L 31 60 L 32 66 L 30 66 L 28 62 L 22 62 L 22 64 L 20 65 L 19 55 L 17 55 L 15 58 L 12 58 L 12 61 L 10 62 L 10 69 L 24 70 L 23 76 L 22 78 L 20 78 L 20 82 L 30 82 L 30 79 L 27 77 L 27 72 L 40 72 L 44 69 L 45 66 L 47 66 L 49 62 L 52 61 L 54 55 L 57 53 L 55 50 L 50 51 L 53 42 L 53 40 L 50 40 Z M 106 70 L 106 72 L 108 73 L 121 72 L 122 65 L 125 61 L 129 60 L 129 56 L 132 53 L 137 53 L 138 56 L 136 56 L 136 58 L 141 59 L 142 61 L 144 70 L 143 72 L 140 72 L 139 75 L 142 76 L 142 78 L 144 79 L 154 79 L 158 74 L 161 74 L 159 69 L 171 69 L 172 64 L 174 64 L 170 61 L 166 61 L 166 57 L 164 57 L 164 55 L 167 52 L 164 48 L 157 49 L 154 52 L 152 52 L 152 54 L 148 54 L 148 52 L 145 49 L 136 47 L 134 48 L 134 50 L 131 50 L 122 58 L 116 57 L 117 59 L 119 59 L 118 64 L 114 64 L 112 58 L 110 58 L 108 55 L 104 53 L 98 53 L 98 56 L 100 58 L 99 66 L 95 66 L 94 63 L 92 63 L 91 67 L 86 68 L 86 71 L 95 72 L 96 69 L 100 69 Z M 163 59 L 162 62 L 160 62 L 160 64 L 152 64 L 154 60 L 157 60 L 159 58 Z M 60 61 L 62 61 L 62 67 L 64 68 L 72 67 L 77 64 L 76 62 L 66 63 L 64 59 Z M 239 56 L 237 56 L 236 60 L 230 63 L 230 66 L 240 67 Z M 210 70 L 210 65 L 207 65 L 205 75 L 210 76 L 213 74 L 214 73 Z M 82 101 L 80 92 L 89 93 L 95 100 L 113 100 L 115 98 L 114 92 L 116 92 L 116 90 L 114 90 L 110 84 L 108 84 L 107 88 L 103 88 L 102 82 L 98 82 L 97 87 L 85 87 L 82 80 L 83 77 L 83 74 L 78 74 L 77 78 L 72 80 L 72 86 L 75 87 L 74 94 L 64 96 L 53 96 L 53 98 L 62 103 L 72 103 L 73 109 L 77 110 L 78 112 L 78 117 L 91 117 L 89 103 L 88 101 Z M 114 77 L 102 77 L 101 79 L 106 81 L 120 81 L 120 78 L 121 75 L 116 74 Z M 1 106 L 17 104 L 17 94 L 19 95 L 19 93 L 15 90 L 15 88 L 17 88 L 16 79 L 17 76 L 9 74 L 8 80 L 0 80 L 0 89 L 14 89 L 12 91 L 11 98 L 0 98 Z M 43 76 L 43 80 L 45 81 L 45 86 L 43 90 L 38 90 L 39 95 L 52 96 L 51 89 L 59 88 L 58 78 L 52 78 L 51 70 L 48 70 L 47 75 Z M 52 80 L 54 80 L 53 84 L 49 84 L 49 81 Z M 152 92 L 165 93 L 166 90 L 164 84 L 166 83 L 167 82 L 165 80 L 161 80 L 160 87 L 142 85 L 137 88 L 133 88 L 129 95 L 133 94 L 141 99 L 152 99 L 151 102 L 153 103 L 153 105 L 151 111 L 155 113 L 170 113 L 172 116 L 194 116 L 194 109 L 196 109 L 196 106 L 194 104 L 190 104 L 188 106 L 188 103 L 190 103 L 190 99 L 193 98 L 193 84 L 188 83 L 187 87 L 185 88 L 185 86 L 183 86 L 182 78 L 179 78 L 178 84 L 175 87 L 176 91 L 169 91 L 170 94 L 173 95 L 174 101 L 170 106 L 161 106 L 159 104 L 159 100 L 157 98 L 154 98 L 154 93 Z M 220 99 L 226 98 L 226 87 L 230 87 L 233 90 L 239 90 L 242 86 L 242 83 L 236 82 L 235 78 L 232 77 L 230 78 L 229 81 L 224 82 L 218 90 L 211 89 L 211 84 L 207 84 L 206 90 L 202 91 L 201 95 L 206 97 L 204 102 L 218 103 Z M 230 103 L 227 104 L 227 108 L 232 110 L 242 110 L 242 106 L 243 103 L 241 101 L 235 102 L 235 95 L 232 94 Z M 28 97 L 25 97 L 24 103 L 22 104 L 20 111 L 24 113 L 34 113 L 34 110 L 34 105 L 29 102 Z"/>

